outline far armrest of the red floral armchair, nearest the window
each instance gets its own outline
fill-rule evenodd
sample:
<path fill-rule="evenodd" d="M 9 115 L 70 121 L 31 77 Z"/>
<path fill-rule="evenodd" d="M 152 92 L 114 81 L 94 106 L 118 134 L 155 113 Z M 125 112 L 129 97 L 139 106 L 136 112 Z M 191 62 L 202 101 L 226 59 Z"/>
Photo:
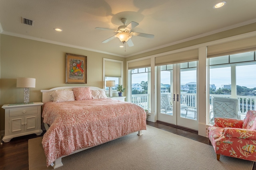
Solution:
<path fill-rule="evenodd" d="M 233 128 L 242 128 L 243 120 L 215 117 L 214 126 L 217 127 L 233 127 Z"/>

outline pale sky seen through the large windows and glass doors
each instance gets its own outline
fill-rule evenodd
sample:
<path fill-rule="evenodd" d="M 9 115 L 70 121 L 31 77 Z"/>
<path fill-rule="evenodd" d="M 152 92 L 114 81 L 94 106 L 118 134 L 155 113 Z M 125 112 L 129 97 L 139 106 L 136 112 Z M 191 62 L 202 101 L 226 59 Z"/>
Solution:
<path fill-rule="evenodd" d="M 236 66 L 236 84 L 245 86 L 247 88 L 256 87 L 256 66 Z M 196 82 L 196 70 L 183 71 L 180 73 L 180 84 L 189 82 Z M 147 73 L 132 74 L 132 83 L 140 83 L 147 81 Z M 161 83 L 170 84 L 170 72 L 162 71 Z M 231 70 L 230 67 L 212 68 L 210 70 L 210 84 L 214 84 L 216 88 L 221 88 L 224 84 L 231 84 Z"/>

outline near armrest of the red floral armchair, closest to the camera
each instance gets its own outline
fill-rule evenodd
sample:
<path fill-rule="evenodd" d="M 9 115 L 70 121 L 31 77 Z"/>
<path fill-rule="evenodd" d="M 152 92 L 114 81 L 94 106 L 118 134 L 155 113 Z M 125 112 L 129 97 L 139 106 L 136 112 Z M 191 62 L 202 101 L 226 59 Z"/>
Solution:
<path fill-rule="evenodd" d="M 239 139 L 250 139 L 256 141 L 256 131 L 249 129 L 225 127 L 223 135 L 226 137 L 236 137 Z"/>

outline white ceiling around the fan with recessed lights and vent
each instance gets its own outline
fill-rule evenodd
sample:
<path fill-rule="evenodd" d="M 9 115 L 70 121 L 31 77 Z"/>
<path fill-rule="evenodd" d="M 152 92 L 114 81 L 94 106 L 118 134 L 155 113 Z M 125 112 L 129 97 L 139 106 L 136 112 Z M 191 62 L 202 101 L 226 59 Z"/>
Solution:
<path fill-rule="evenodd" d="M 0 0 L 0 33 L 128 57 L 196 37 L 256 22 L 256 0 Z M 34 25 L 22 23 L 22 17 Z M 120 21 L 138 22 L 134 32 L 153 34 L 153 39 L 133 36 L 133 47 L 115 38 Z M 2 27 L 1 27 L 2 26 Z M 62 32 L 54 28 L 63 29 Z"/>

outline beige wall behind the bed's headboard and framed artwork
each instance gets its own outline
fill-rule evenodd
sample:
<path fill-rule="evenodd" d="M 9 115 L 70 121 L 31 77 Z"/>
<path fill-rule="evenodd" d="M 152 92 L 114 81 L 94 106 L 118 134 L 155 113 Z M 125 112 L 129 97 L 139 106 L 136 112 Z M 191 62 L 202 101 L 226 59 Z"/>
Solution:
<path fill-rule="evenodd" d="M 96 86 L 103 88 L 103 58 L 124 61 L 117 57 L 82 49 L 64 47 L 1 34 L 0 44 L 0 107 L 23 103 L 23 88 L 16 88 L 17 77 L 36 78 L 30 88 L 30 102 L 42 101 L 40 90 L 58 86 Z M 66 84 L 66 53 L 87 56 L 87 84 Z M 0 111 L 0 130 L 4 130 L 4 109 Z"/>

